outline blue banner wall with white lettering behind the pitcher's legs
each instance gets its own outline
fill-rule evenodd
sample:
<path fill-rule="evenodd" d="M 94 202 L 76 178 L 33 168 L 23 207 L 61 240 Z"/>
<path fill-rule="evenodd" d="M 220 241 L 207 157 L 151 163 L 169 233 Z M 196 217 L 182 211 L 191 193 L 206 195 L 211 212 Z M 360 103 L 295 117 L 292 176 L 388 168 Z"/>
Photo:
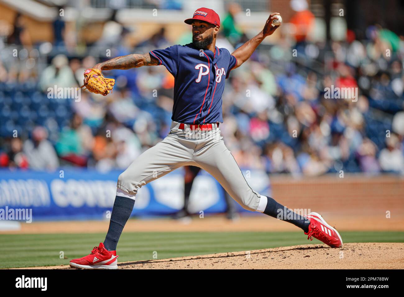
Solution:
<path fill-rule="evenodd" d="M 105 219 L 114 205 L 116 181 L 121 171 L 99 173 L 64 169 L 54 173 L 0 171 L 0 209 L 32 209 L 33 219 Z M 269 179 L 261 171 L 244 171 L 254 189 L 270 195 Z M 142 187 L 132 215 L 170 215 L 183 207 L 183 169 Z M 196 177 L 189 198 L 193 213 L 221 213 L 226 210 L 224 193 L 208 173 Z M 244 209 L 239 207 L 240 211 Z"/>

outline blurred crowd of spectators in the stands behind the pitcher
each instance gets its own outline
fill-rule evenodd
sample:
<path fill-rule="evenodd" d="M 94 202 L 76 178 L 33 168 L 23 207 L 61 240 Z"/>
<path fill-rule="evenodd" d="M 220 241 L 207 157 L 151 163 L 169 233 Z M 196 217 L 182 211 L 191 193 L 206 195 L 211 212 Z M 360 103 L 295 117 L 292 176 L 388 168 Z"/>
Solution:
<path fill-rule="evenodd" d="M 221 16 L 217 45 L 230 52 L 247 40 L 239 10 L 230 5 Z M 305 6 L 295 10 L 294 33 L 280 29 L 276 44 L 260 46 L 226 82 L 221 131 L 239 166 L 308 176 L 404 174 L 403 38 L 375 25 L 361 40 L 348 31 L 344 41 L 313 42 L 313 16 Z M 25 57 L 0 58 L 0 167 L 124 170 L 168 134 L 174 78 L 163 66 L 105 71 L 116 79 L 107 97 L 83 91 L 80 101 L 48 98 L 53 86 L 80 86 L 84 70 L 107 57 L 72 53 L 75 38 L 57 20 L 53 51 L 41 69 L 46 46 L 31 44 L 18 18 L 2 46 L 17 44 Z M 104 56 L 111 48 L 115 57 L 171 45 L 164 28 L 135 47 L 129 36 L 113 15 L 99 40 L 86 46 Z M 190 41 L 187 34 L 178 43 Z M 358 93 L 335 98 L 327 88 Z"/>

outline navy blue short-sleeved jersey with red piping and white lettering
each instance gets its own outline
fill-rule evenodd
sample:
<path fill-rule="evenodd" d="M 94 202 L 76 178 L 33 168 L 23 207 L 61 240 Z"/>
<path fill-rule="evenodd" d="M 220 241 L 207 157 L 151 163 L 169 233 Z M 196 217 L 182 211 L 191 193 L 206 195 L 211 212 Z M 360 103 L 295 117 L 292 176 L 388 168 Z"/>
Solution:
<path fill-rule="evenodd" d="M 225 78 L 237 64 L 227 49 L 216 47 L 213 53 L 185 44 L 149 53 L 175 78 L 172 120 L 184 124 L 223 122 Z"/>

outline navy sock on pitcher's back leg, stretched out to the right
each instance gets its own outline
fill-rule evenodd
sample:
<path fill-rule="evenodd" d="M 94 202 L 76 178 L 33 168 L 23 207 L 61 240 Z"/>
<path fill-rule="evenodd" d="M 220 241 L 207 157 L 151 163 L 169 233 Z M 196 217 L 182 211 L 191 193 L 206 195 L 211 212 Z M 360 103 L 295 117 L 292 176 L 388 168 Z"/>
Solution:
<path fill-rule="evenodd" d="M 309 231 L 309 225 L 310 225 L 309 220 L 306 220 L 303 216 L 298 215 L 291 209 L 287 209 L 286 206 L 279 204 L 271 197 L 267 198 L 268 202 L 264 211 L 265 215 L 269 215 L 270 217 L 274 217 L 282 221 L 292 223 L 293 225 L 302 228 L 303 231 L 306 233 Z"/>

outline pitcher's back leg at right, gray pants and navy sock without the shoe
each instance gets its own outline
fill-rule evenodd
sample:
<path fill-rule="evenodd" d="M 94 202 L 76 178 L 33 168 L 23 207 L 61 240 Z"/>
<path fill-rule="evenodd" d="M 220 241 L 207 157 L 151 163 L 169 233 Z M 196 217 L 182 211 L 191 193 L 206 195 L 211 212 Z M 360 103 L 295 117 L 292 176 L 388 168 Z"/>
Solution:
<path fill-rule="evenodd" d="M 271 197 L 262 196 L 251 189 L 223 140 L 210 141 L 198 154 L 195 154 L 194 160 L 202 169 L 215 177 L 227 193 L 244 209 L 259 211 L 271 217 L 286 220 L 302 228 L 305 232 L 308 231 L 309 221 L 307 219 L 286 209 Z M 282 215 L 285 210 L 288 216 Z"/>

